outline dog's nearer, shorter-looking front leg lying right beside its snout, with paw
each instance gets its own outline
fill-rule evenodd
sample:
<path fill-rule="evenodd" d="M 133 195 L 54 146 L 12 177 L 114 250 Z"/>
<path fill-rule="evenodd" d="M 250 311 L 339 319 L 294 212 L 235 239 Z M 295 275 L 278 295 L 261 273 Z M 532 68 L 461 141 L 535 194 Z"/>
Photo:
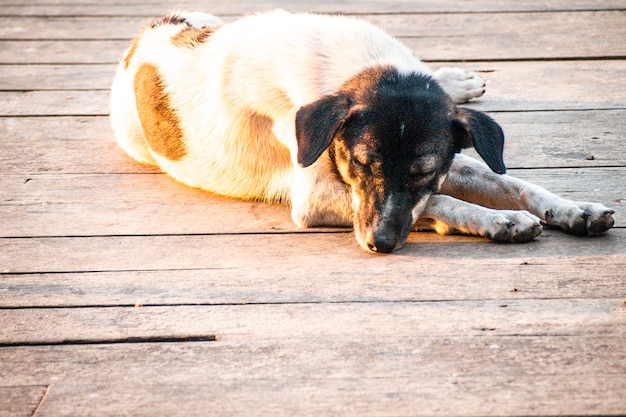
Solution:
<path fill-rule="evenodd" d="M 541 221 L 527 211 L 494 210 L 435 194 L 415 223 L 415 229 L 463 233 L 504 242 L 528 242 L 541 234 Z"/>

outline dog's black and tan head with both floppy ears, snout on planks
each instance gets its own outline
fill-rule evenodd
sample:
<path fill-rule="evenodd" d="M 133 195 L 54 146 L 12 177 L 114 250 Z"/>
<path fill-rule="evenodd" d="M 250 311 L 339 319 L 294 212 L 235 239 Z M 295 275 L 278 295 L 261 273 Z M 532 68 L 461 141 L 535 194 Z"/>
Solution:
<path fill-rule="evenodd" d="M 401 247 L 455 153 L 474 146 L 504 173 L 502 129 L 488 116 L 457 107 L 427 75 L 377 67 L 296 116 L 298 162 L 307 167 L 328 149 L 352 190 L 354 231 L 374 252 Z"/>

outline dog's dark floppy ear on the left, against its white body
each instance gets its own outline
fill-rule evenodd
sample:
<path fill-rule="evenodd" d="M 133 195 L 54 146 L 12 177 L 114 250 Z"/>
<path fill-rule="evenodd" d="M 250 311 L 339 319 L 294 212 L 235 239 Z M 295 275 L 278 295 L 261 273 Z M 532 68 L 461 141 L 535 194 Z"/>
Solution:
<path fill-rule="evenodd" d="M 328 148 L 350 110 L 350 99 L 332 94 L 308 104 L 296 114 L 298 164 L 308 167 Z"/>

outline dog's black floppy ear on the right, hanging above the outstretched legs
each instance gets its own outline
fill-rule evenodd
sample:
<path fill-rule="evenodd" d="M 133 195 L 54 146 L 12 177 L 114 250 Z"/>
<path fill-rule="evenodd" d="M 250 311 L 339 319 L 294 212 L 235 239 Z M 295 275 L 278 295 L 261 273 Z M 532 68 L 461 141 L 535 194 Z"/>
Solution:
<path fill-rule="evenodd" d="M 460 108 L 457 117 L 454 123 L 459 149 L 473 146 L 489 168 L 504 174 L 504 132 L 500 125 L 486 114 L 468 108 Z"/>

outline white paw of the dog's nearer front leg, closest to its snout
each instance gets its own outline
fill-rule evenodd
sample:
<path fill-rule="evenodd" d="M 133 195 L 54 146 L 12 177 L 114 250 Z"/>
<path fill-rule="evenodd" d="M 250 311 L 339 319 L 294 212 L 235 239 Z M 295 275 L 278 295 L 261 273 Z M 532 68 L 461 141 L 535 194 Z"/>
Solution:
<path fill-rule="evenodd" d="M 543 231 L 542 221 L 527 211 L 496 211 L 485 237 L 497 242 L 530 242 Z"/>

